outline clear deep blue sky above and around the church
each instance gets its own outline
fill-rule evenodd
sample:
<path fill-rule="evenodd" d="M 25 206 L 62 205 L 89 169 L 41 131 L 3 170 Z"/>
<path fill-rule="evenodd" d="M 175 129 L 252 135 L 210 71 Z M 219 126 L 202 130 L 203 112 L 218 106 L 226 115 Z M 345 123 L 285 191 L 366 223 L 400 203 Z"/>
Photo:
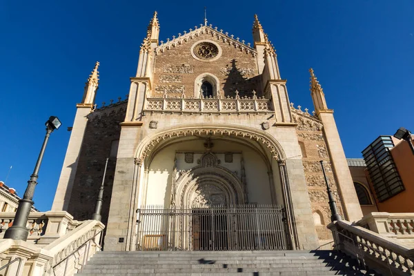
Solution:
<path fill-rule="evenodd" d="M 219 5 L 216 5 L 219 3 Z M 253 5 L 255 3 L 255 5 Z M 213 6 L 214 4 L 214 6 Z M 0 180 L 23 195 L 50 115 L 34 194 L 50 210 L 83 86 L 100 61 L 102 101 L 125 98 L 154 10 L 160 40 L 204 19 L 197 1 L 0 1 Z M 275 45 L 290 101 L 313 110 L 308 68 L 324 88 L 347 157 L 379 135 L 414 131 L 414 1 L 206 2 L 208 22 L 252 42 L 253 14 Z"/>

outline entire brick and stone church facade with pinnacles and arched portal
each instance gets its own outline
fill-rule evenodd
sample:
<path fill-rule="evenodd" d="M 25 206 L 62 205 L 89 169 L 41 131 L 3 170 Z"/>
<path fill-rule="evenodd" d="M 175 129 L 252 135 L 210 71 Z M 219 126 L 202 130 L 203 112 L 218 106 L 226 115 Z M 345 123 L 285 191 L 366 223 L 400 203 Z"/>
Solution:
<path fill-rule="evenodd" d="M 283 233 L 284 249 L 315 249 L 332 239 L 323 160 L 339 213 L 360 219 L 333 110 L 313 70 L 315 112 L 309 114 L 290 103 L 257 16 L 253 41 L 206 21 L 159 41 L 155 13 L 125 101 L 96 108 L 99 63 L 92 71 L 77 104 L 52 210 L 90 219 L 110 157 L 105 250 L 141 250 L 146 243 L 154 243 L 152 249 L 175 244 L 174 250 L 209 250 L 217 239 L 221 250 L 234 250 L 250 228 L 257 229 L 250 249 L 281 237 L 270 238 L 273 232 Z M 259 212 L 265 214 L 260 227 Z M 209 231 L 221 237 L 203 234 Z"/>

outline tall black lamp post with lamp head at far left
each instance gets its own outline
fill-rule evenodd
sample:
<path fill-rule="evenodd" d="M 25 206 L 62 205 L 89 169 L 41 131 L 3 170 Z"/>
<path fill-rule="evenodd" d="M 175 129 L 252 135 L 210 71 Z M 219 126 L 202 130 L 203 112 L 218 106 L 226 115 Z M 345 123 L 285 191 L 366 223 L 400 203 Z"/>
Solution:
<path fill-rule="evenodd" d="M 46 137 L 43 141 L 43 145 L 41 146 L 36 166 L 34 166 L 33 173 L 30 175 L 28 187 L 26 188 L 26 192 L 24 192 L 23 199 L 19 200 L 19 206 L 17 207 L 16 215 L 14 216 L 13 225 L 6 230 L 6 233 L 4 233 L 4 239 L 22 239 L 23 241 L 28 239 L 29 230 L 26 228 L 26 224 L 28 223 L 29 213 L 34 204 L 32 199 L 34 188 L 36 188 L 37 184 L 37 174 L 39 173 L 41 160 L 43 159 L 50 133 L 52 133 L 53 130 L 58 129 L 60 126 L 61 121 L 59 121 L 59 119 L 55 116 L 50 116 L 48 121 L 46 121 Z"/>

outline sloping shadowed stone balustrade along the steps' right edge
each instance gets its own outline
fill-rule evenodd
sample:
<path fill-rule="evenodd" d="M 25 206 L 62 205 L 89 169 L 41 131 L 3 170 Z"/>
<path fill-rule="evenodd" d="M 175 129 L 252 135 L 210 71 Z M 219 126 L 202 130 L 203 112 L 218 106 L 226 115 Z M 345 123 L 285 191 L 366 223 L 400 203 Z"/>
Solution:
<path fill-rule="evenodd" d="M 414 250 L 397 244 L 371 230 L 355 226 L 349 221 L 335 221 L 328 225 L 333 232 L 337 249 L 362 259 L 368 267 L 384 275 L 412 275 Z"/>

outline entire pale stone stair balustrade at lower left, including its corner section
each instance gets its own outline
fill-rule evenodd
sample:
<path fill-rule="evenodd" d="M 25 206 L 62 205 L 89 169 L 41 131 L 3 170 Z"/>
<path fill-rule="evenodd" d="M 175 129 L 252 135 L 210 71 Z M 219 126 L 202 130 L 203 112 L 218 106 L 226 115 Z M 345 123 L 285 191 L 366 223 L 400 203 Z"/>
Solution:
<path fill-rule="evenodd" d="M 79 273 L 88 259 L 101 250 L 104 227 L 96 220 L 77 221 L 75 228 L 66 228 L 66 234 L 43 246 L 21 240 L 0 239 L 1 266 L 10 264 L 0 273 L 4 276 L 72 276 Z M 19 262 L 12 262 L 17 258 Z"/>

